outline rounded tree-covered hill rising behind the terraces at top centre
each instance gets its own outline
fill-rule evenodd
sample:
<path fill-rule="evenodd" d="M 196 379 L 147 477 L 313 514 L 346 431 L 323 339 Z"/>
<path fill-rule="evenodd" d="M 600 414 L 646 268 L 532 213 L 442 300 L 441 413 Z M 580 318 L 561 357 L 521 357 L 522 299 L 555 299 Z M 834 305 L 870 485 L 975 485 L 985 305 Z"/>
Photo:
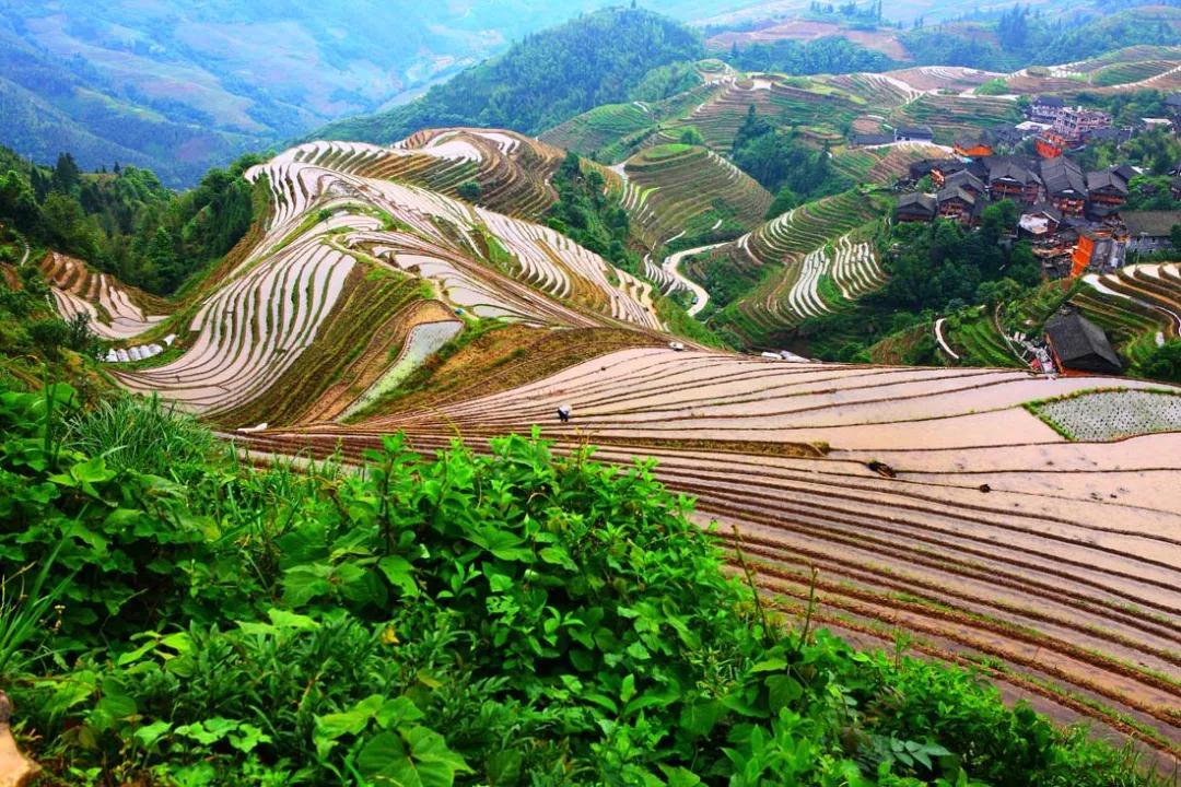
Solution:
<path fill-rule="evenodd" d="M 609 8 L 526 37 L 410 104 L 333 123 L 315 136 L 389 143 L 419 129 L 464 125 L 537 133 L 626 100 L 654 68 L 703 55 L 699 38 L 676 21 Z"/>

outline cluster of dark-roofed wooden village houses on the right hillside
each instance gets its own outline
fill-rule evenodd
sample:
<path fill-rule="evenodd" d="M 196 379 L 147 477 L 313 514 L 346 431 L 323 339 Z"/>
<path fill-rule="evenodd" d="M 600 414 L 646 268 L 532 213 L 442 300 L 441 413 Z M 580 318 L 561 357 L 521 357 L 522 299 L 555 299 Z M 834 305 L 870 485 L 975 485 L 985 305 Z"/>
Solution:
<path fill-rule="evenodd" d="M 937 218 L 976 225 L 984 209 L 1001 199 L 1020 209 L 1017 236 L 1029 240 L 1052 278 L 1087 270 L 1110 271 L 1128 251 L 1150 253 L 1172 244 L 1179 211 L 1122 211 L 1129 182 L 1127 164 L 1084 172 L 1064 156 L 983 156 L 926 159 L 911 165 L 909 182 L 931 178 L 933 194 L 905 194 L 899 222 Z"/>

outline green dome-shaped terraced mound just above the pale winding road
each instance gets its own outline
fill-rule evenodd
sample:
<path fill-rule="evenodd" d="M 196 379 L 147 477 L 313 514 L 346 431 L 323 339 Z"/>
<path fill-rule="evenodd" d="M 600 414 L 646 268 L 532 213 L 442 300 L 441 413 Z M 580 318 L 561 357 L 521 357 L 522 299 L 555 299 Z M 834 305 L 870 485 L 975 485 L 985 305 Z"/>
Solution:
<path fill-rule="evenodd" d="M 723 216 L 756 227 L 771 195 L 749 175 L 705 147 L 661 145 L 624 165 L 624 206 L 645 245 L 659 249 L 677 235 L 709 230 Z"/>

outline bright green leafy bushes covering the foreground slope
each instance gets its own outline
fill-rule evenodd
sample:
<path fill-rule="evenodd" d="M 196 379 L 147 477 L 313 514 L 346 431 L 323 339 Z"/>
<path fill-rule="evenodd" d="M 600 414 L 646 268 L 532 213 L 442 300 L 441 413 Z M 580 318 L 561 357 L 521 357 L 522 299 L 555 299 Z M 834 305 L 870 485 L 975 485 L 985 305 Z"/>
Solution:
<path fill-rule="evenodd" d="M 120 457 L 102 413 L 63 439 L 71 394 L 0 395 L 0 686 L 51 783 L 1151 783 L 967 673 L 764 624 L 651 465 Z"/>

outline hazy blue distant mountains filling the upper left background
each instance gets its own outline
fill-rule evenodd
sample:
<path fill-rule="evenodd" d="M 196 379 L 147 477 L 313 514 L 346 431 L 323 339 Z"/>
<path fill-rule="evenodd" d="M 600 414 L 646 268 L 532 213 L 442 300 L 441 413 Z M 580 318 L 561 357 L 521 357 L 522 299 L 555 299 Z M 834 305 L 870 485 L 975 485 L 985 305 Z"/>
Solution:
<path fill-rule="evenodd" d="M 671 0 L 692 19 L 751 0 Z M 0 144 L 171 183 L 389 109 L 603 0 L 0 0 Z"/>

